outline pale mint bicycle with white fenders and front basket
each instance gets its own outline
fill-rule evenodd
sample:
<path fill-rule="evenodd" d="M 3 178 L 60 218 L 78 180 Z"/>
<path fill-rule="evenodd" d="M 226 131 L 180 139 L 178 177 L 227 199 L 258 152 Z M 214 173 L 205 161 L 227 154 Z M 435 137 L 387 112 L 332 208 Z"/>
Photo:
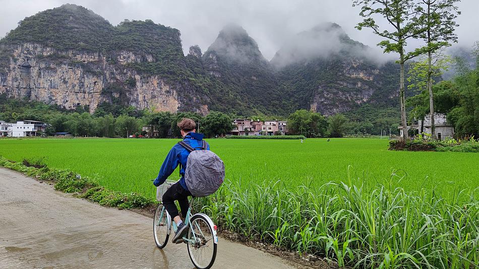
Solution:
<path fill-rule="evenodd" d="M 175 181 L 166 181 L 163 183 L 166 184 L 163 187 L 167 189 L 174 183 Z M 191 216 L 193 200 L 194 197 L 190 200 L 190 208 L 185 218 L 185 224 L 189 227 L 189 231 L 183 237 L 183 242 L 187 244 L 188 254 L 193 265 L 198 269 L 208 269 L 213 265 L 216 258 L 218 245 L 217 227 L 206 214 L 196 213 Z M 158 205 L 153 220 L 153 235 L 158 248 L 162 249 L 168 243 L 171 228 L 176 232 L 176 223 L 171 220 L 171 216 L 166 209 L 161 204 Z"/>

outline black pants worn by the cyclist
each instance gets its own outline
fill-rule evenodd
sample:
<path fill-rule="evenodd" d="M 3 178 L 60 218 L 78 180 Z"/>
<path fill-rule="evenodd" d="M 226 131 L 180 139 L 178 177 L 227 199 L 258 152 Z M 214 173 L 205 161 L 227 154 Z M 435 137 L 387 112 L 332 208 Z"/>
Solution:
<path fill-rule="evenodd" d="M 179 216 L 178 209 L 174 204 L 174 201 L 177 200 L 179 208 L 182 210 L 183 218 L 186 217 L 186 213 L 190 208 L 190 202 L 188 201 L 188 196 L 191 196 L 191 192 L 182 187 L 179 182 L 174 183 L 169 189 L 163 194 L 163 206 L 166 208 L 166 211 L 173 219 L 176 216 Z"/>

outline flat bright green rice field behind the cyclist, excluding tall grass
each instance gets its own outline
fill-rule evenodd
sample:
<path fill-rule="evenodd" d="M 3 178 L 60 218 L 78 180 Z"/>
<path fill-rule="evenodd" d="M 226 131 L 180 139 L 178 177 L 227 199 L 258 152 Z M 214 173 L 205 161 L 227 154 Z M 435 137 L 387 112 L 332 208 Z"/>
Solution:
<path fill-rule="evenodd" d="M 178 140 L 158 139 L 3 139 L 0 156 L 13 161 L 40 159 L 50 167 L 70 168 L 97 177 L 111 190 L 154 197 L 155 178 Z M 479 154 L 388 151 L 383 139 L 209 140 L 226 166 L 226 178 L 249 183 L 281 181 L 286 186 L 329 181 L 385 184 L 406 191 L 454 189 L 479 196 Z M 349 168 L 348 168 L 349 167 Z M 349 177 L 348 177 L 349 173 Z M 392 176 L 392 174 L 394 174 Z M 178 178 L 177 172 L 171 179 Z"/>

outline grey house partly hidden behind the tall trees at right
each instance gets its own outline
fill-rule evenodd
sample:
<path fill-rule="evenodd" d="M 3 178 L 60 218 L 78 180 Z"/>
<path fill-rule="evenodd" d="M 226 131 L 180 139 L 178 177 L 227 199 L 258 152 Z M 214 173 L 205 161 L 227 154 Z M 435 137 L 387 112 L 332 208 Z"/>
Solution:
<path fill-rule="evenodd" d="M 436 125 L 436 137 L 438 140 L 454 137 L 454 126 L 449 123 L 444 114 L 434 114 L 434 123 Z M 423 132 L 431 134 L 431 116 L 427 115 L 424 120 L 415 120 L 412 125 L 407 126 L 408 129 L 414 129 L 417 133 Z M 402 126 L 398 127 L 400 136 L 403 137 L 404 132 Z"/>

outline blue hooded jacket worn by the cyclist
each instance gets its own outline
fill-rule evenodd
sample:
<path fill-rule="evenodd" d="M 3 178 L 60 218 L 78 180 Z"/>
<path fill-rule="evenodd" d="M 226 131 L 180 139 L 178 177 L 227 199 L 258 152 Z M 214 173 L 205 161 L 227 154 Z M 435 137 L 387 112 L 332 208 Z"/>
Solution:
<path fill-rule="evenodd" d="M 189 144 L 191 147 L 195 149 L 201 149 L 203 146 L 203 137 L 204 135 L 201 133 L 196 133 L 196 132 L 189 132 L 183 141 L 185 141 L 187 144 Z M 210 149 L 210 145 L 207 146 L 207 150 Z M 178 167 L 178 164 L 182 164 L 181 170 L 179 170 L 179 174 L 181 174 L 182 178 L 179 179 L 179 184 L 182 185 L 183 188 L 188 190 L 188 187 L 186 186 L 185 183 L 185 169 L 186 169 L 186 163 L 188 161 L 188 156 L 190 155 L 190 152 L 188 152 L 185 148 L 183 148 L 181 145 L 174 145 L 173 148 L 169 151 L 168 155 L 166 156 L 165 161 L 161 165 L 160 172 L 158 173 L 158 176 L 156 179 L 153 181 L 153 185 L 159 186 L 165 182 L 165 180 L 174 172 L 174 169 Z"/>

